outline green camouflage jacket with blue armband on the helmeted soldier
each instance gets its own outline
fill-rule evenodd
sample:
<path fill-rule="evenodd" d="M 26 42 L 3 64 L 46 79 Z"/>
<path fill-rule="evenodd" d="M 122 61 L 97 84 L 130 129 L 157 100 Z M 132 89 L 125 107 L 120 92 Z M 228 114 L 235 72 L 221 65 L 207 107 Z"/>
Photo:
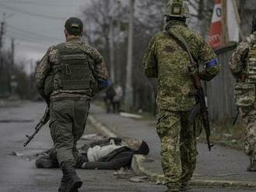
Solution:
<path fill-rule="evenodd" d="M 200 77 L 209 81 L 218 74 L 220 66 L 216 54 L 201 36 L 192 32 L 183 22 L 169 22 L 162 33 L 150 41 L 144 56 L 144 73 L 158 79 L 157 105 L 161 110 L 190 111 L 195 105 L 195 86 L 188 74 L 189 54 L 168 30 L 176 33 L 188 43 L 192 57 L 203 64 Z"/>

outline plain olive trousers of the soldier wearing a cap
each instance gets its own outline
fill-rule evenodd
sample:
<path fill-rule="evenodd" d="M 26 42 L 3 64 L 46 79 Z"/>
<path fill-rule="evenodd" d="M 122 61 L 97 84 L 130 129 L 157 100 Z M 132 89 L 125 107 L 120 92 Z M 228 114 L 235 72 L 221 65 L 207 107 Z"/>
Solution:
<path fill-rule="evenodd" d="M 54 141 L 57 160 L 72 163 L 78 159 L 78 140 L 85 131 L 89 102 L 85 100 L 61 99 L 50 102 L 50 135 Z"/>

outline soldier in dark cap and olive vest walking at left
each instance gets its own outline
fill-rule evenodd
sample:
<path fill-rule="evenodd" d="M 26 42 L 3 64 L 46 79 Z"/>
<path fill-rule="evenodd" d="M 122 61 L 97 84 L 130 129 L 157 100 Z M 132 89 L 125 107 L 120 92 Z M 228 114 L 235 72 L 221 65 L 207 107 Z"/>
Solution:
<path fill-rule="evenodd" d="M 85 131 L 89 101 L 108 84 L 102 56 L 81 42 L 83 23 L 70 18 L 65 23 L 67 41 L 51 46 L 40 61 L 36 87 L 50 107 L 50 135 L 63 177 L 59 192 L 76 192 L 81 180 L 74 170 L 78 139 Z"/>

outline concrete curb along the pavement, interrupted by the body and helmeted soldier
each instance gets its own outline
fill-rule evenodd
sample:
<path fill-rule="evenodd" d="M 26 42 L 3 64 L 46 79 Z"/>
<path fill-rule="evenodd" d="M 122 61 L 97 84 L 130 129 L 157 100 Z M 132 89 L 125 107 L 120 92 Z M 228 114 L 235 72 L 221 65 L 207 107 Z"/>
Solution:
<path fill-rule="evenodd" d="M 95 127 L 95 129 L 106 137 L 118 137 L 116 133 L 110 131 L 105 125 L 99 123 L 92 115 L 88 115 L 88 121 Z M 143 155 L 133 156 L 131 168 L 137 174 L 144 174 L 147 178 L 157 184 L 164 183 L 164 175 L 152 173 L 146 168 L 144 168 L 143 163 L 146 157 Z M 244 182 L 244 181 L 232 181 L 232 180 L 193 180 L 190 182 L 192 186 L 195 187 L 248 187 L 256 188 L 256 183 L 254 182 Z"/>

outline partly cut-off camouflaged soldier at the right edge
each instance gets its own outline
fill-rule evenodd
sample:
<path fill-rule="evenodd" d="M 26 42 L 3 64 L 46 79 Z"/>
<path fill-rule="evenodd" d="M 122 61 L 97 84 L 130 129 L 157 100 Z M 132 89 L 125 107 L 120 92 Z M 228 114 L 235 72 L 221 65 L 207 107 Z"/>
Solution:
<path fill-rule="evenodd" d="M 235 87 L 236 105 L 247 125 L 245 153 L 249 156 L 248 171 L 256 171 L 256 17 L 252 22 L 252 33 L 237 46 L 229 63 L 230 70 L 237 80 Z"/>

